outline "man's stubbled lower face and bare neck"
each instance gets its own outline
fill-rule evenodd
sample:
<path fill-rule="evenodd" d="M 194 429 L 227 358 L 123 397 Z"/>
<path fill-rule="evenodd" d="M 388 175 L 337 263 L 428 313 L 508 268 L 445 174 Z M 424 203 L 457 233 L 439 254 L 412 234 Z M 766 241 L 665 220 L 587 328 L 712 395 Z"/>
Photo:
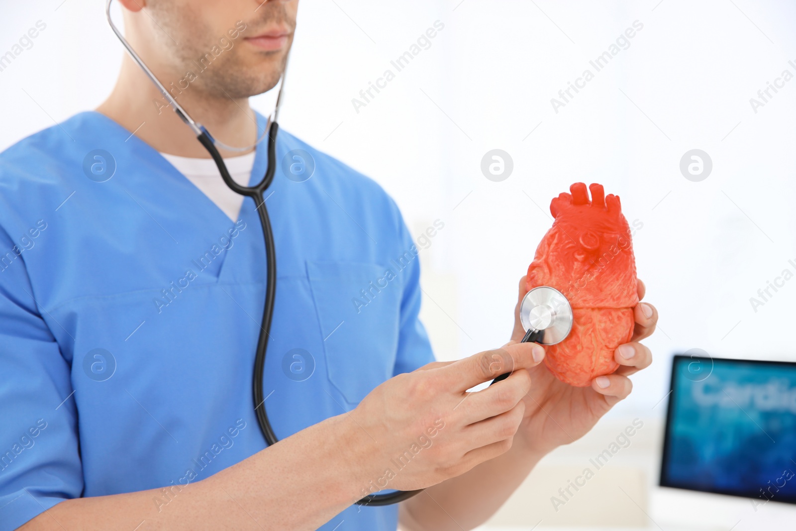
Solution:
<path fill-rule="evenodd" d="M 193 6 L 190 0 L 119 3 L 127 41 L 181 107 L 228 145 L 255 143 L 256 115 L 248 97 L 278 83 L 293 41 L 298 0 L 268 0 L 257 10 L 249 0 Z M 162 153 L 209 158 L 127 54 L 111 95 L 96 110 Z"/>

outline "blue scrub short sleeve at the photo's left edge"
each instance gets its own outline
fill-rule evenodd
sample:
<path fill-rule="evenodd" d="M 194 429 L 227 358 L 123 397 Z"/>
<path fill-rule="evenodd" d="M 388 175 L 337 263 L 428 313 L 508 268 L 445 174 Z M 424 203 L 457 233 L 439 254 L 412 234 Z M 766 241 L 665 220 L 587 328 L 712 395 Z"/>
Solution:
<path fill-rule="evenodd" d="M 35 249 L 23 251 L 0 229 L 0 531 L 83 490 L 70 367 L 25 270 Z"/>

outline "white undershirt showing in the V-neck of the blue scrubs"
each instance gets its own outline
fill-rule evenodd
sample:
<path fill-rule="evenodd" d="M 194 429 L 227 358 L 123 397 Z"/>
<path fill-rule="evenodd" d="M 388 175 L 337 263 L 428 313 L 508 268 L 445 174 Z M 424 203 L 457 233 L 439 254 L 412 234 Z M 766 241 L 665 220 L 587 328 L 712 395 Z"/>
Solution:
<path fill-rule="evenodd" d="M 166 153 L 161 153 L 161 155 L 224 211 L 229 219 L 237 221 L 244 197 L 233 192 L 224 183 L 224 179 L 218 173 L 216 162 L 213 162 L 212 158 L 178 157 Z M 252 176 L 252 166 L 254 166 L 254 155 L 255 152 L 252 151 L 252 153 L 239 157 L 224 158 L 232 180 L 239 185 L 248 186 L 249 178 Z"/>

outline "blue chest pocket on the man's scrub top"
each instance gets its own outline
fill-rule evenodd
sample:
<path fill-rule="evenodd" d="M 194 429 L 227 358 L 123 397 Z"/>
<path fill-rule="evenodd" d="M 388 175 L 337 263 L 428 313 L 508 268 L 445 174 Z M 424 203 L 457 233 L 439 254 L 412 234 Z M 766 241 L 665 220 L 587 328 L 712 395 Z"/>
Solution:
<path fill-rule="evenodd" d="M 307 261 L 306 268 L 329 380 L 356 405 L 393 375 L 403 279 L 378 264 Z"/>

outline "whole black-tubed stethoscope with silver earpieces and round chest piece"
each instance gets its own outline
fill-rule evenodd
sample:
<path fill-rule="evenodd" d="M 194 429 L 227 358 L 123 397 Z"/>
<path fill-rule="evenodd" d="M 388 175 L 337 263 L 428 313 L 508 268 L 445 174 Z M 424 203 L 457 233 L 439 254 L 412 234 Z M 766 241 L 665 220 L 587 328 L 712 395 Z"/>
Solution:
<path fill-rule="evenodd" d="M 208 151 L 213 161 L 218 166 L 218 171 L 224 183 L 228 185 L 232 191 L 240 193 L 245 197 L 252 197 L 255 202 L 257 214 L 259 215 L 259 223 L 263 228 L 263 238 L 265 239 L 265 256 L 267 267 L 267 279 L 265 285 L 265 304 L 263 306 L 263 321 L 260 324 L 259 338 L 257 339 L 257 350 L 254 362 L 254 376 L 252 377 L 252 399 L 255 404 L 255 412 L 260 431 L 263 432 L 266 442 L 269 446 L 279 442 L 271 422 L 268 420 L 268 414 L 265 410 L 265 398 L 263 397 L 263 369 L 265 368 L 265 352 L 267 349 L 267 340 L 269 331 L 271 330 L 271 320 L 274 316 L 274 301 L 276 295 L 276 252 L 274 245 L 274 232 L 271 229 L 271 220 L 268 218 L 268 211 L 265 206 L 265 191 L 271 182 L 274 180 L 276 171 L 276 135 L 279 132 L 279 109 L 282 107 L 282 96 L 285 88 L 285 72 L 287 72 L 287 57 L 285 59 L 285 71 L 282 74 L 282 84 L 279 86 L 279 94 L 276 97 L 276 106 L 273 114 L 268 118 L 268 125 L 266 127 L 268 137 L 268 166 L 265 170 L 263 179 L 254 186 L 242 186 L 232 180 L 224 158 L 219 154 L 216 146 L 221 146 L 225 150 L 231 151 L 247 151 L 257 146 L 265 135 L 263 134 L 256 143 L 252 146 L 234 147 L 227 146 L 226 144 L 214 139 L 209 131 L 205 129 L 201 123 L 193 120 L 185 109 L 181 107 L 174 96 L 166 90 L 161 84 L 154 73 L 146 66 L 141 57 L 131 47 L 127 39 L 124 38 L 122 33 L 113 23 L 111 18 L 111 2 L 107 0 L 105 5 L 105 14 L 108 24 L 111 25 L 113 33 L 119 37 L 119 41 L 130 54 L 130 57 L 136 64 L 146 73 L 152 83 L 158 87 L 163 97 L 169 101 L 172 110 L 177 113 L 180 119 L 191 128 L 193 133 L 197 135 L 197 139 L 202 146 Z M 558 342 L 564 341 L 572 329 L 572 308 L 570 307 L 567 298 L 556 290 L 548 286 L 535 287 L 529 291 L 525 298 L 522 299 L 520 306 L 520 319 L 522 326 L 527 330 L 522 342 L 537 342 L 542 345 L 555 345 Z M 501 376 L 494 379 L 496 381 L 504 380 L 509 377 L 510 373 L 501 374 Z M 491 385 L 491 384 L 490 384 Z M 412 498 L 416 494 L 422 492 L 421 490 L 397 490 L 389 494 L 369 494 L 357 501 L 357 505 L 361 506 L 388 506 L 393 503 L 403 502 L 408 498 Z"/>

